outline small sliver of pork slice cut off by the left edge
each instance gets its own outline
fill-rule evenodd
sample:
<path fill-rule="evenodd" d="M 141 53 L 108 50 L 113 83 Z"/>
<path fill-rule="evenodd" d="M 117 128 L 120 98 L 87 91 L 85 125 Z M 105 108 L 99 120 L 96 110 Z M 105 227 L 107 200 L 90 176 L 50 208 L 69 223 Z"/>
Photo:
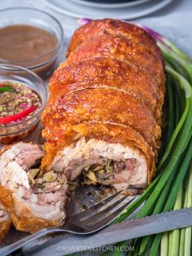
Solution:
<path fill-rule="evenodd" d="M 7 211 L 0 209 L 0 243 L 5 239 L 11 227 L 11 217 Z"/>

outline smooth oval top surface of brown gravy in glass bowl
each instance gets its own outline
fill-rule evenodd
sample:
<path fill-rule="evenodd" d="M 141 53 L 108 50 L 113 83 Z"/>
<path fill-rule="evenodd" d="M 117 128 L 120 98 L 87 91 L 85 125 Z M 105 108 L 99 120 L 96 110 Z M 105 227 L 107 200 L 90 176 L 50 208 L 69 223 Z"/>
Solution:
<path fill-rule="evenodd" d="M 57 38 L 45 29 L 19 24 L 3 27 L 0 29 L 0 59 L 31 60 L 50 53 L 57 43 Z"/>

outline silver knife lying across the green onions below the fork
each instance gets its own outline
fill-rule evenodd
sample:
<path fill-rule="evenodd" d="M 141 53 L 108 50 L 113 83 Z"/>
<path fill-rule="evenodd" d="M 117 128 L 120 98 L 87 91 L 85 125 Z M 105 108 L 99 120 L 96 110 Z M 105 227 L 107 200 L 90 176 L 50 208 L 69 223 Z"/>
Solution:
<path fill-rule="evenodd" d="M 46 242 L 38 246 L 34 246 L 37 243 L 25 245 L 23 252 L 28 256 L 67 255 L 189 226 L 192 226 L 192 207 L 116 223 L 94 233 L 94 235 L 76 236 L 68 234 L 48 238 Z"/>

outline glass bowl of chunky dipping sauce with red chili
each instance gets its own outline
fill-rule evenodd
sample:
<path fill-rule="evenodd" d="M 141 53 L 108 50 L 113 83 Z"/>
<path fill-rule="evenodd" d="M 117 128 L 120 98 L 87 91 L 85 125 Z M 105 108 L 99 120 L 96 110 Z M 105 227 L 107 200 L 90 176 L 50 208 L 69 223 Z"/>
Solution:
<path fill-rule="evenodd" d="M 47 93 L 46 83 L 36 73 L 0 64 L 0 143 L 22 139 L 36 128 Z"/>

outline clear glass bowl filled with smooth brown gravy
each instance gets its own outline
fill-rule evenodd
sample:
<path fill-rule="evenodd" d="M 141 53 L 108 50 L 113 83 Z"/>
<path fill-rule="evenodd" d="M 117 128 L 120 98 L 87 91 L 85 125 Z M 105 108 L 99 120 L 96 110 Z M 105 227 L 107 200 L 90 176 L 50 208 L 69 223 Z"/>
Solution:
<path fill-rule="evenodd" d="M 0 11 L 1 63 L 19 65 L 46 78 L 62 46 L 62 26 L 45 11 L 28 7 Z"/>

